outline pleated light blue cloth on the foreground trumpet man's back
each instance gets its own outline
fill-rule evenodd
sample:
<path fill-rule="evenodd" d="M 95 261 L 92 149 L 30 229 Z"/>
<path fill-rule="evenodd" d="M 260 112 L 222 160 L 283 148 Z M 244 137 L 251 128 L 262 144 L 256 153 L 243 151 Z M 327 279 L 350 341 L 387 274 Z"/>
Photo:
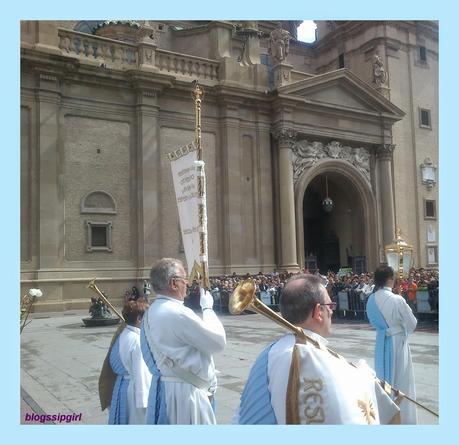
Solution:
<path fill-rule="evenodd" d="M 268 388 L 268 354 L 274 343 L 258 356 L 250 370 L 249 378 L 241 395 L 240 425 L 276 425 Z"/>

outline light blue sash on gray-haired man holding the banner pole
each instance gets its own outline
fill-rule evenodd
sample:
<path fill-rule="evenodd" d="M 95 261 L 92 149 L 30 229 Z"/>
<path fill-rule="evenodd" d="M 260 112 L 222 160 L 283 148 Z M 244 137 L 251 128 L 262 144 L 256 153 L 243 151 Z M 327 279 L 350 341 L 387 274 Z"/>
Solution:
<path fill-rule="evenodd" d="M 161 381 L 161 373 L 156 366 L 155 359 L 148 345 L 145 335 L 144 320 L 148 314 L 145 314 L 140 328 L 140 348 L 142 350 L 143 359 L 152 374 L 150 392 L 148 394 L 147 408 L 147 425 L 168 425 L 166 408 L 166 391 L 164 382 Z"/>

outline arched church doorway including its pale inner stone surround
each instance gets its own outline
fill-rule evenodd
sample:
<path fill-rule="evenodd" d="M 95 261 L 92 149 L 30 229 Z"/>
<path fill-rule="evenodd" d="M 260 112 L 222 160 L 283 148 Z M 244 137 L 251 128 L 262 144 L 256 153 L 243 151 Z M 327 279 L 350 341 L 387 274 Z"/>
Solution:
<path fill-rule="evenodd" d="M 322 206 L 326 178 L 331 212 Z M 315 259 L 321 273 L 341 267 L 361 272 L 379 263 L 376 200 L 370 183 L 349 163 L 324 159 L 305 169 L 295 184 L 295 208 L 300 267 Z"/>

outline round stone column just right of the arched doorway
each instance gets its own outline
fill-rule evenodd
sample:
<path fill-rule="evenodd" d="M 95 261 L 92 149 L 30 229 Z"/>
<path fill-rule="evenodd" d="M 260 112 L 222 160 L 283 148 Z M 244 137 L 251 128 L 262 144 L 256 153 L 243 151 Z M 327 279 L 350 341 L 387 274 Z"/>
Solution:
<path fill-rule="evenodd" d="M 393 144 L 383 144 L 376 149 L 379 168 L 379 192 L 381 196 L 381 224 L 383 247 L 395 238 L 394 186 L 392 180 Z"/>

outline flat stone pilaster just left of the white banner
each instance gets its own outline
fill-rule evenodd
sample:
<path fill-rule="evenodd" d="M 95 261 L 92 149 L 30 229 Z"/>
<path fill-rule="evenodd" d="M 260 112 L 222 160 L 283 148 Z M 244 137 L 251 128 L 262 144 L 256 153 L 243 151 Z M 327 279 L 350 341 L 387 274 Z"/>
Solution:
<path fill-rule="evenodd" d="M 154 173 L 160 163 L 157 95 L 142 89 L 137 96 L 138 267 L 144 276 L 161 256 L 159 177 Z"/>

